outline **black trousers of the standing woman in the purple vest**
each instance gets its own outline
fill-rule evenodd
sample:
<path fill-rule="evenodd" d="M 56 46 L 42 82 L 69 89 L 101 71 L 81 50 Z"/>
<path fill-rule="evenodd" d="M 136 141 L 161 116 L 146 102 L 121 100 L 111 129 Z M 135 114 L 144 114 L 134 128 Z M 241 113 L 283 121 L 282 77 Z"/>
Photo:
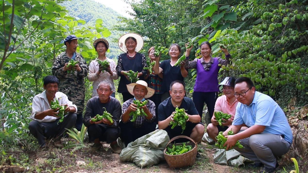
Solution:
<path fill-rule="evenodd" d="M 193 102 L 196 106 L 196 109 L 201 116 L 202 120 L 202 111 L 204 108 L 204 103 L 209 111 L 209 117 L 205 117 L 206 124 L 211 123 L 211 118 L 214 113 L 215 102 L 218 98 L 217 92 L 193 92 Z"/>

